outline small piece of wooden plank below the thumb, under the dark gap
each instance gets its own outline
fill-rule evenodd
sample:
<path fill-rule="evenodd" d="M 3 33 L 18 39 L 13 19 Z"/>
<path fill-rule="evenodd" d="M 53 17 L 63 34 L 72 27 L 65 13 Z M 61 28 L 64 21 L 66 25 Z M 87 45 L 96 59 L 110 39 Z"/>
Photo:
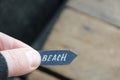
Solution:
<path fill-rule="evenodd" d="M 57 80 L 57 79 L 48 74 L 35 70 L 28 76 L 27 80 Z"/>

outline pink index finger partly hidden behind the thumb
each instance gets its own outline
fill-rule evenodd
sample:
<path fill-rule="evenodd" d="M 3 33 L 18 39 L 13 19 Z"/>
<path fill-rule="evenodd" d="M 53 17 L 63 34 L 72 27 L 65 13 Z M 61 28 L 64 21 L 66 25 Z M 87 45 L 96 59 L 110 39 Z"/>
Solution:
<path fill-rule="evenodd" d="M 0 32 L 0 50 L 29 47 L 27 44 Z"/>

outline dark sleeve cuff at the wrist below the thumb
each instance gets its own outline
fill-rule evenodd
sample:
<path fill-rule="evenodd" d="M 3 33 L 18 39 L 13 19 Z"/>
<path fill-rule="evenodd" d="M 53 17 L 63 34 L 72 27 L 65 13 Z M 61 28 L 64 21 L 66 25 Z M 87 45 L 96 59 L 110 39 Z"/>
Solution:
<path fill-rule="evenodd" d="M 7 80 L 8 68 L 5 58 L 0 53 L 0 80 Z"/>

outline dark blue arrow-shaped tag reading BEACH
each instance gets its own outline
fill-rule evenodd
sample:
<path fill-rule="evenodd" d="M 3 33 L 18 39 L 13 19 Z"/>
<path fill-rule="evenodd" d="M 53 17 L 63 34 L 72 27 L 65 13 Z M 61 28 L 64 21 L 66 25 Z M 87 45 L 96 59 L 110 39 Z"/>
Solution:
<path fill-rule="evenodd" d="M 41 66 L 44 65 L 68 65 L 77 56 L 70 50 L 48 50 L 39 51 L 41 55 Z"/>

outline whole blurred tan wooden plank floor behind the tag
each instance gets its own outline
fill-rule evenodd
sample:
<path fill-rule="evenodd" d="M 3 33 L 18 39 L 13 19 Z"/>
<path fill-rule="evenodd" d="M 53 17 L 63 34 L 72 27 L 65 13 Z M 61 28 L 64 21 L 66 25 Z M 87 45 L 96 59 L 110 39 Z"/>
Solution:
<path fill-rule="evenodd" d="M 120 80 L 119 28 L 119 0 L 70 0 L 43 50 L 69 49 L 78 57 L 47 68 L 72 80 Z M 28 80 L 59 79 L 34 71 Z"/>

